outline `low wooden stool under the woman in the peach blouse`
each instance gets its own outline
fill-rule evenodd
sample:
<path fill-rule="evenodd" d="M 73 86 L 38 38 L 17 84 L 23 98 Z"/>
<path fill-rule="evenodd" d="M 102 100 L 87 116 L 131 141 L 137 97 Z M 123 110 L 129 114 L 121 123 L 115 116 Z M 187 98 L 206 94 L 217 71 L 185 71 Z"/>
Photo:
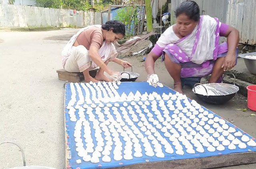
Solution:
<path fill-rule="evenodd" d="M 94 69 L 89 71 L 91 77 L 95 77 L 99 69 Z M 70 73 L 65 71 L 65 69 L 60 69 L 56 71 L 58 73 L 58 79 L 61 81 L 69 81 L 74 83 L 80 83 L 84 80 L 83 73 Z"/>

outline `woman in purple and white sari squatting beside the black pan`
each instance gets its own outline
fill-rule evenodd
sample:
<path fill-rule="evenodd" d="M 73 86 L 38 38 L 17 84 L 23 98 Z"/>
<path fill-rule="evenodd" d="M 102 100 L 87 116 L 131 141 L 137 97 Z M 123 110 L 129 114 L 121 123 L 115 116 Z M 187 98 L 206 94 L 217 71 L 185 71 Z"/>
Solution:
<path fill-rule="evenodd" d="M 154 71 L 154 62 L 160 56 L 177 92 L 182 93 L 180 78 L 211 74 L 209 83 L 217 83 L 224 71 L 236 65 L 238 30 L 218 18 L 200 16 L 194 1 L 182 2 L 175 13 L 176 24 L 166 29 L 146 57 L 148 83 L 161 84 Z M 220 36 L 227 37 L 227 42 L 219 45 Z"/>

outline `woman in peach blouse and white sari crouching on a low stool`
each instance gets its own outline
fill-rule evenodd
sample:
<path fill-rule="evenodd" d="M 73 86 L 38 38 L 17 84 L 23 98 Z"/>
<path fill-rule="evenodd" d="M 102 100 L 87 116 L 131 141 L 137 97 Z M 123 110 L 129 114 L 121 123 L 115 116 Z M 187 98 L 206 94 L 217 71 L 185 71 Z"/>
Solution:
<path fill-rule="evenodd" d="M 62 65 L 68 72 L 82 72 L 86 82 L 118 81 L 121 75 L 110 70 L 108 62 L 113 61 L 130 67 L 127 61 L 117 59 L 117 52 L 113 45 L 125 35 L 124 24 L 120 21 L 108 21 L 106 24 L 92 25 L 80 29 L 73 35 L 62 50 Z M 95 79 L 89 75 L 89 71 L 100 67 Z M 104 71 L 110 75 L 111 80 L 104 75 Z"/>

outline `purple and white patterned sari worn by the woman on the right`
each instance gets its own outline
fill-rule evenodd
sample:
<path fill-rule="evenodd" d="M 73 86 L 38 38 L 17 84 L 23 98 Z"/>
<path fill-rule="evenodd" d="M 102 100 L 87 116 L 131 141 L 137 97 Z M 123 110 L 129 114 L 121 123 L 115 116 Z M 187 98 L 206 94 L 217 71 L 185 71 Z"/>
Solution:
<path fill-rule="evenodd" d="M 200 16 L 190 35 L 179 39 L 170 27 L 166 30 L 169 32 L 161 35 L 152 51 L 157 55 L 162 51 L 162 61 L 166 53 L 172 62 L 182 65 L 181 77 L 204 77 L 212 73 L 217 58 L 226 56 L 228 45 L 226 42 L 219 45 L 219 37 L 227 29 L 228 26 L 220 23 L 218 18 Z"/>

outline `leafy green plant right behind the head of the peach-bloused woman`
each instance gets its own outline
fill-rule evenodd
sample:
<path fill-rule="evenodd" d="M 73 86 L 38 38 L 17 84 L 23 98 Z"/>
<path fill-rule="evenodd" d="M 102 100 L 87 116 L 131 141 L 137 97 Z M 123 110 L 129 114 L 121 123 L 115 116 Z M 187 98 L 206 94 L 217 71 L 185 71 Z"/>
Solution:
<path fill-rule="evenodd" d="M 138 8 L 139 9 L 139 8 Z M 138 12 L 137 7 L 135 6 L 129 6 L 126 8 L 120 8 L 116 12 L 115 20 L 119 20 L 122 23 L 126 25 L 127 31 L 126 31 L 126 37 L 129 37 L 134 32 L 134 29 L 136 28 L 136 25 L 138 24 Z M 131 26 L 133 27 L 131 28 Z"/>

